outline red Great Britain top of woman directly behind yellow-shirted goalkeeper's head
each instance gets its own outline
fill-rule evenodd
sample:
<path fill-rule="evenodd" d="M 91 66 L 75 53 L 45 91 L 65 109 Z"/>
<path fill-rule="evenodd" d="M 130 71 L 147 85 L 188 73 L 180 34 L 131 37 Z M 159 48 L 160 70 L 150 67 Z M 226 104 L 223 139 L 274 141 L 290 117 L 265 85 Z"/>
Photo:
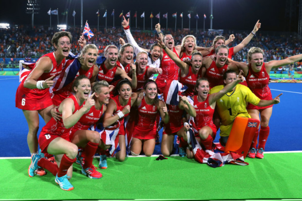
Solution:
<path fill-rule="evenodd" d="M 206 76 L 208 78 L 210 89 L 224 84 L 224 73 L 227 72 L 227 64 L 221 68 L 218 68 L 215 61 L 212 61 L 210 67 L 208 67 Z"/>

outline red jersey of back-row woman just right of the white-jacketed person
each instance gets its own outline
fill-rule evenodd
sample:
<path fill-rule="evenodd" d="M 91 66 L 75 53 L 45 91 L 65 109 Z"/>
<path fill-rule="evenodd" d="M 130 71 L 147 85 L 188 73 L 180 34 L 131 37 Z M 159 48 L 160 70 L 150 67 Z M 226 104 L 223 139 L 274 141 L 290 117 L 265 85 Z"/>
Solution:
<path fill-rule="evenodd" d="M 175 47 L 173 47 L 173 52 L 178 56 Z M 175 64 L 175 62 L 167 55 L 165 51 L 163 51 L 163 58 L 161 60 L 160 66 L 163 70 L 162 73 L 158 74 L 156 78 L 156 84 L 159 90 L 162 92 L 164 87 L 166 86 L 167 80 L 177 80 L 179 67 Z"/>

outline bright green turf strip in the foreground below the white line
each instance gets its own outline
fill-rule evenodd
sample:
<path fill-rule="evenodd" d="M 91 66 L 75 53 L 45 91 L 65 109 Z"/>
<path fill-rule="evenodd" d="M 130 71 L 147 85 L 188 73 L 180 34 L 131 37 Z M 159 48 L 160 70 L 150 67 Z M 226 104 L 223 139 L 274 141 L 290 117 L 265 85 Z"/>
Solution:
<path fill-rule="evenodd" d="M 298 199 L 302 198 L 302 153 L 264 154 L 246 159 L 247 166 L 212 168 L 194 160 L 169 157 L 108 159 L 103 178 L 92 180 L 74 164 L 72 191 L 63 191 L 55 177 L 28 177 L 29 159 L 0 160 L 0 198 L 7 199 Z M 97 166 L 98 159 L 94 159 Z"/>

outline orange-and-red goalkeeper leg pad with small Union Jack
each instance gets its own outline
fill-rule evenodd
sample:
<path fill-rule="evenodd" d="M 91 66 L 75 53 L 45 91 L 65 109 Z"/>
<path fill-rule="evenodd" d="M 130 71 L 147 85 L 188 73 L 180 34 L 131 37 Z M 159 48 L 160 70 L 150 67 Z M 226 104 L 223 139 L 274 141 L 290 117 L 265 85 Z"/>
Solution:
<path fill-rule="evenodd" d="M 246 157 L 259 124 L 258 119 L 236 117 L 227 139 L 225 152 L 232 151 Z"/>

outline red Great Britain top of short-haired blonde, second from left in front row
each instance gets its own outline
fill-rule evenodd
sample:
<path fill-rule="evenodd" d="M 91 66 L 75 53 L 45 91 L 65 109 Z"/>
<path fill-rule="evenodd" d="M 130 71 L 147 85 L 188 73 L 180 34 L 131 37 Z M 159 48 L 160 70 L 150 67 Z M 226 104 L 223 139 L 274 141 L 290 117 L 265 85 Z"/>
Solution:
<path fill-rule="evenodd" d="M 75 126 L 71 128 L 70 138 L 72 138 L 73 134 L 76 130 L 87 130 L 91 125 L 94 125 L 103 115 L 104 105 L 100 108 L 100 110 L 96 110 L 95 107 L 91 107 L 88 112 L 86 112 L 79 120 L 76 122 Z"/>

